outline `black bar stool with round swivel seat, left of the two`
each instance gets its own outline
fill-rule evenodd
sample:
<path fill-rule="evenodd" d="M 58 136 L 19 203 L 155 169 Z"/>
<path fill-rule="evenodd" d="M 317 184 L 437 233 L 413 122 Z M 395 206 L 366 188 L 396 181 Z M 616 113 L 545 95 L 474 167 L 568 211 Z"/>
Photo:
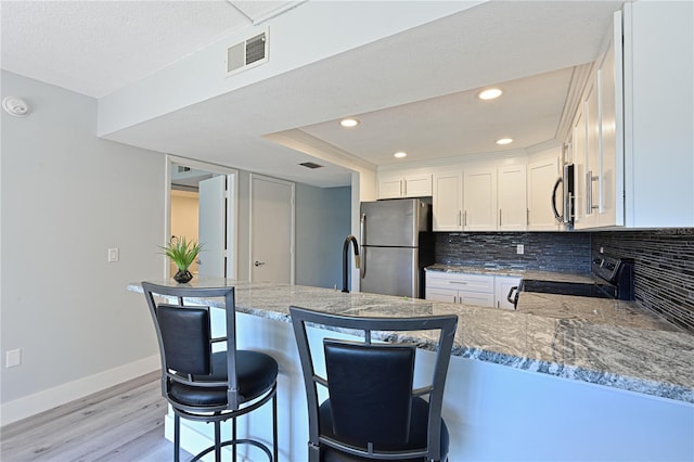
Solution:
<path fill-rule="evenodd" d="M 193 461 L 210 451 L 221 460 L 221 448 L 246 444 L 259 448 L 268 460 L 278 460 L 278 363 L 269 355 L 237 350 L 235 339 L 234 287 L 208 288 L 142 283 L 159 342 L 162 395 L 174 409 L 174 458 L 179 461 L 180 419 L 211 422 L 215 444 Z M 163 296 L 175 303 L 157 303 Z M 223 297 L 226 336 L 213 337 L 210 308 L 184 305 L 184 298 Z M 226 348 L 213 348 L 214 345 Z M 236 438 L 236 418 L 272 400 L 272 451 L 261 441 Z M 221 441 L 220 423 L 232 420 L 232 439 Z"/>

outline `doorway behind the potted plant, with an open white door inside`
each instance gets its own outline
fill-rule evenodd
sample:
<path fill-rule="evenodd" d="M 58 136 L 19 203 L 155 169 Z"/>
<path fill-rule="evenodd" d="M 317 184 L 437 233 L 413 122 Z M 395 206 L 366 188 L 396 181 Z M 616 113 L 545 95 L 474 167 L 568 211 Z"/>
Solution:
<path fill-rule="evenodd" d="M 237 171 L 167 156 L 166 240 L 203 244 L 191 272 L 203 278 L 236 279 Z M 165 275 L 172 274 L 167 261 Z"/>

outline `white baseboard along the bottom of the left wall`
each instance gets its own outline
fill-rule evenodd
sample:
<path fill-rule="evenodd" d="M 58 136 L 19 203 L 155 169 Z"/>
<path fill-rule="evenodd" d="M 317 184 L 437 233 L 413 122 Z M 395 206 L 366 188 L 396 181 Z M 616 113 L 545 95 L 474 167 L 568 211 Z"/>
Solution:
<path fill-rule="evenodd" d="M 162 367 L 158 355 L 110 369 L 74 382 L 49 388 L 14 401 L 5 402 L 0 408 L 0 425 L 48 411 L 57 406 L 83 398 L 119 383 L 139 377 Z"/>

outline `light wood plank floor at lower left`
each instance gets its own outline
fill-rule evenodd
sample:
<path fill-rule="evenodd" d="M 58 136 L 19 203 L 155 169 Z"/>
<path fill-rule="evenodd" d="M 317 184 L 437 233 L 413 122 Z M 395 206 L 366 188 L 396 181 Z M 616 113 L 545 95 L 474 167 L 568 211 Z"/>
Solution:
<path fill-rule="evenodd" d="M 153 372 L 0 429 L 0 460 L 171 461 L 167 406 Z M 181 451 L 181 461 L 191 454 Z"/>

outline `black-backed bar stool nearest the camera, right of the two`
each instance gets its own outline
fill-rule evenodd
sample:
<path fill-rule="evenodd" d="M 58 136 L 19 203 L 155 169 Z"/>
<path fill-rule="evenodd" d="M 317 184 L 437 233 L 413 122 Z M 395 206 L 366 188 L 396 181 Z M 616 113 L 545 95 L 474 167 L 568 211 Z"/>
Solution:
<path fill-rule="evenodd" d="M 299 307 L 290 307 L 290 312 L 308 400 L 310 462 L 447 460 L 449 434 L 441 405 L 458 317 L 355 318 Z M 316 358 L 322 355 L 311 352 L 307 324 L 347 329 L 363 342 L 325 338 L 321 376 Z M 404 331 L 403 336 L 398 337 L 398 331 Z M 372 332 L 397 339 L 407 338 L 407 331 L 438 331 L 434 370 L 419 388 L 413 388 L 415 341 L 372 342 Z M 329 396 L 322 403 L 319 386 Z"/>

